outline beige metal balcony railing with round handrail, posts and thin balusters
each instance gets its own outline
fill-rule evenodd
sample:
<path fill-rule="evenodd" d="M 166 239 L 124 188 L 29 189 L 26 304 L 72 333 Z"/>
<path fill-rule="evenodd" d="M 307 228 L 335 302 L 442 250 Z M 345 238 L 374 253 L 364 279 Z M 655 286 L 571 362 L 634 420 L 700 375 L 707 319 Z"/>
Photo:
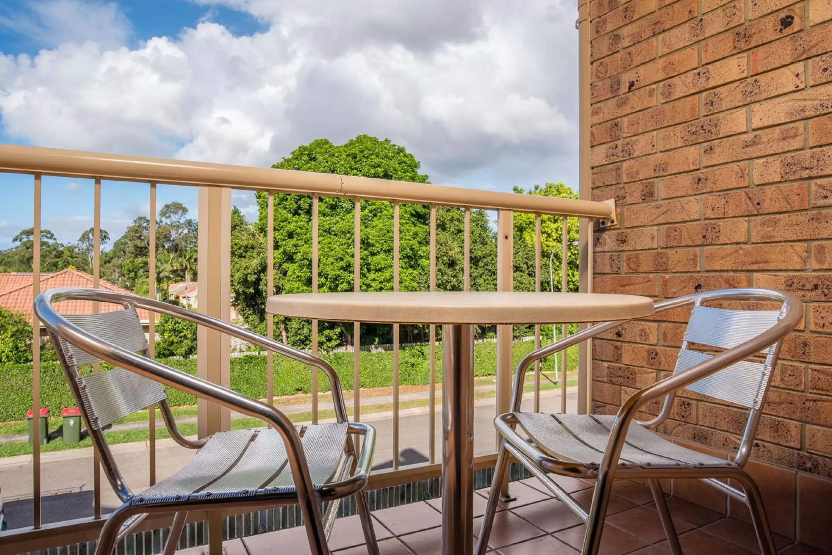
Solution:
<path fill-rule="evenodd" d="M 92 179 L 95 182 L 94 202 L 94 251 L 93 275 L 98 286 L 100 232 L 101 232 L 101 186 L 102 180 L 134 181 L 149 186 L 150 200 L 150 260 L 149 260 L 149 295 L 156 295 L 156 185 L 171 184 L 182 186 L 199 186 L 199 257 L 198 286 L 200 294 L 199 309 L 208 315 L 229 318 L 230 310 L 230 191 L 245 189 L 267 191 L 268 235 L 267 235 L 267 289 L 269 294 L 275 292 L 274 275 L 274 221 L 275 193 L 295 193 L 310 195 L 312 204 L 312 290 L 318 290 L 319 278 L 319 199 L 321 196 L 349 197 L 354 199 L 354 289 L 361 288 L 360 280 L 360 237 L 361 237 L 361 201 L 389 201 L 394 203 L 394 290 L 399 289 L 399 211 L 401 203 L 415 203 L 430 206 L 429 223 L 429 288 L 436 290 L 436 220 L 437 206 L 457 206 L 464 209 L 463 239 L 463 289 L 469 290 L 471 284 L 471 214 L 472 209 L 498 211 L 498 290 L 513 289 L 513 215 L 514 212 L 527 212 L 535 215 L 535 276 L 537 290 L 541 281 L 541 245 L 542 216 L 563 217 L 562 243 L 562 287 L 567 288 L 567 220 L 569 217 L 582 219 L 582 240 L 580 245 L 582 265 L 580 267 L 582 290 L 592 289 L 592 243 L 588 240 L 592 221 L 608 223 L 613 221 L 615 208 L 609 202 L 571 200 L 547 196 L 517 195 L 495 191 L 476 191 L 460 187 L 435 186 L 402 181 L 384 181 L 355 176 L 338 176 L 301 171 L 275 170 L 244 166 L 228 166 L 202 162 L 176 161 L 137 156 L 120 156 L 82 151 L 65 151 L 44 149 L 30 146 L 0 145 L 0 171 L 31 174 L 34 191 L 34 249 L 32 258 L 34 295 L 38 294 L 40 285 L 40 247 L 41 247 L 41 204 L 42 176 L 72 176 Z M 97 309 L 96 309 L 97 310 Z M 40 326 L 33 322 L 33 344 L 40 343 Z M 154 334 L 154 321 L 150 322 L 151 337 Z M 274 324 L 267 319 L 267 333 L 274 336 Z M 393 452 L 394 468 L 389 471 L 374 473 L 370 488 L 381 488 L 397 483 L 410 483 L 424 478 L 438 476 L 440 468 L 435 453 L 436 438 L 436 327 L 429 327 L 430 367 L 429 367 L 429 426 L 428 426 L 428 462 L 399 468 L 399 326 L 394 326 L 394 367 L 393 367 Z M 567 326 L 562 327 L 564 336 Z M 540 326 L 535 328 L 535 345 L 540 344 Z M 229 385 L 230 349 L 228 338 L 220 337 L 216 332 L 201 331 L 198 338 L 198 373 L 210 381 Z M 154 348 L 151 343 L 151 354 Z M 360 323 L 354 322 L 354 344 L 360 344 Z M 511 392 L 513 334 L 512 326 L 498 326 L 498 377 L 497 377 L 497 412 L 508 410 Z M 312 349 L 318 351 L 318 322 L 312 325 Z M 40 404 L 40 360 L 39 349 L 32 352 L 32 405 L 37 414 Z M 267 359 L 267 399 L 274 401 L 274 361 L 272 355 Z M 360 412 L 360 349 L 354 349 L 354 419 L 361 418 Z M 562 354 L 562 369 L 567 368 L 566 352 Z M 578 410 L 586 411 L 590 406 L 589 363 L 586 356 L 578 369 L 579 392 Z M 313 374 L 312 419 L 319 418 L 318 375 Z M 567 379 L 561 380 L 562 410 L 566 411 Z M 534 407 L 540 407 L 540 365 L 534 374 Z M 148 476 L 150 483 L 156 482 L 156 414 L 153 409 L 149 414 L 149 460 Z M 209 406 L 200 402 L 198 410 L 198 428 L 200 434 L 213 434 L 230 426 L 227 409 Z M 18 528 L 0 533 L 0 552 L 20 553 L 34 549 L 65 545 L 72 541 L 87 541 L 97 537 L 102 522 L 101 483 L 98 480 L 97 459 L 94 463 L 94 506 L 92 519 L 80 519 L 63 523 L 42 525 L 41 513 L 41 453 L 39 429 L 33 430 L 32 456 L 32 526 Z M 478 457 L 477 468 L 493 466 L 494 456 Z M 192 519 L 205 518 L 204 514 L 193 514 Z M 210 523 L 218 523 L 211 518 Z M 164 523 L 148 521 L 146 527 L 159 528 Z M 210 527 L 211 543 L 215 547 L 218 541 L 217 531 L 220 526 Z M 69 538 L 69 539 L 67 539 Z M 213 549 L 212 549 L 213 551 Z"/>

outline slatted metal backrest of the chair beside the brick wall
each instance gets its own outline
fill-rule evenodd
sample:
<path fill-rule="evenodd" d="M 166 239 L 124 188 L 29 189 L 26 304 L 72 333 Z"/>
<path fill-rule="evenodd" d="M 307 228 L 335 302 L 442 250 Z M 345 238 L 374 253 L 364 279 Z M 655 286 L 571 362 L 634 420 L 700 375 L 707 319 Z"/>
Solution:
<path fill-rule="evenodd" d="M 697 304 L 691 313 L 674 374 L 711 358 L 691 349 L 691 344 L 711 349 L 731 349 L 769 330 L 782 310 L 728 310 Z M 782 341 L 782 340 L 781 340 Z M 760 409 L 776 363 L 777 344 L 760 351 L 765 362 L 742 360 L 689 385 L 686 389 L 749 409 Z"/>

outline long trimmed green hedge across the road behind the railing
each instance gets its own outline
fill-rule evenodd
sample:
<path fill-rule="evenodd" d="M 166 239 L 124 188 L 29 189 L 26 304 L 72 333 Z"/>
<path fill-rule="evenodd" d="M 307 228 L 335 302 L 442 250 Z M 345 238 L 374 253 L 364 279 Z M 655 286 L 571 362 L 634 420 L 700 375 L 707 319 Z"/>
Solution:
<path fill-rule="evenodd" d="M 514 364 L 528 354 L 534 344 L 532 341 L 514 343 Z M 442 381 L 442 349 L 436 349 L 436 368 L 438 382 Z M 577 367 L 577 351 L 570 349 L 569 368 Z M 424 385 L 430 380 L 428 364 L 428 347 L 404 347 L 399 351 L 399 384 Z M 353 354 L 325 354 L 341 379 L 344 390 L 353 389 Z M 474 346 L 474 372 L 477 376 L 496 374 L 497 344 L 478 343 Z M 196 375 L 196 359 L 159 359 L 162 364 Z M 102 369 L 108 365 L 102 363 Z M 547 366 L 548 368 L 548 366 Z M 91 369 L 82 369 L 88 374 Z M 266 358 L 260 354 L 250 354 L 231 359 L 231 389 L 255 399 L 266 396 Z M 0 422 L 22 420 L 26 411 L 32 408 L 32 366 L 14 364 L 0 366 Z M 329 390 L 325 376 L 319 377 L 320 389 Z M 393 353 L 361 353 L 361 387 L 379 388 L 393 384 Z M 275 397 L 298 393 L 310 393 L 312 369 L 305 364 L 275 355 Z M 196 404 L 193 395 L 168 388 L 168 401 L 172 406 Z M 60 414 L 60 409 L 75 406 L 63 371 L 57 363 L 41 364 L 41 406 L 52 409 L 52 415 Z"/>

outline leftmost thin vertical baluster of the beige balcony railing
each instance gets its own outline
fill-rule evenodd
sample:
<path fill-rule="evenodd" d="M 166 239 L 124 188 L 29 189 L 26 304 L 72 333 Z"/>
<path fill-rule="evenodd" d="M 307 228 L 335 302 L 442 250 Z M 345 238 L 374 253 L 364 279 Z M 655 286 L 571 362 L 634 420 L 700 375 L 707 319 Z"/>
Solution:
<path fill-rule="evenodd" d="M 41 175 L 35 174 L 32 298 L 41 294 Z M 41 322 L 32 312 L 32 527 L 41 528 Z"/>

